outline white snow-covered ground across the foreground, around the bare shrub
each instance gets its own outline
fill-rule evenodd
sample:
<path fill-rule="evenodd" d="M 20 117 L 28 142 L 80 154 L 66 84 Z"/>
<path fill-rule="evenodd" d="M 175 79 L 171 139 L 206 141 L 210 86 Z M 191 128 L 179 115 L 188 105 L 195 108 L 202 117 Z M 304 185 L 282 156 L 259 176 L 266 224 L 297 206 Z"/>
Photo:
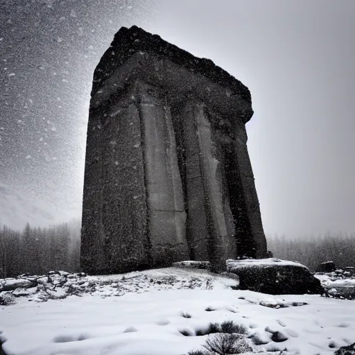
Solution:
<path fill-rule="evenodd" d="M 80 278 L 85 283 L 96 286 L 80 297 L 42 302 L 28 294 L 1 306 L 3 350 L 9 355 L 182 355 L 205 343 L 208 336 L 196 331 L 225 320 L 244 324 L 259 354 L 284 349 L 282 354 L 334 354 L 355 343 L 354 301 L 236 291 L 236 279 L 183 268 Z"/>

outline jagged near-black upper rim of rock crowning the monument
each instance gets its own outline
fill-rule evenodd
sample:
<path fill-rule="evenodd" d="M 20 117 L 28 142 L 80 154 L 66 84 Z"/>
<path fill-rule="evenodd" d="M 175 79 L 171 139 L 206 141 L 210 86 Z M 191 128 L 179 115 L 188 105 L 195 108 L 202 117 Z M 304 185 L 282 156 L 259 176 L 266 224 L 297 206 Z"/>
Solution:
<path fill-rule="evenodd" d="M 186 67 L 193 73 L 198 73 L 214 83 L 230 88 L 232 92 L 240 94 L 246 101 L 251 101 L 248 87 L 211 60 L 197 58 L 184 49 L 164 41 L 159 35 L 152 35 L 137 26 L 121 27 L 114 35 L 110 48 L 105 51 L 94 71 L 92 94 L 98 90 L 103 81 L 110 78 L 117 67 L 120 67 L 138 51 L 154 53 L 159 57 L 167 58 L 175 64 Z"/>

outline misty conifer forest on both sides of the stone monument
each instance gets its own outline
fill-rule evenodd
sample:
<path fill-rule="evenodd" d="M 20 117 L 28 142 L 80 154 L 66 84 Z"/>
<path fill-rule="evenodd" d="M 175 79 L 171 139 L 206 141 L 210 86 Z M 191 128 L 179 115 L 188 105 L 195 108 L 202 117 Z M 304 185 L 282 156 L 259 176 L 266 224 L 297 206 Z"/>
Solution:
<path fill-rule="evenodd" d="M 42 275 L 50 270 L 80 271 L 80 220 L 51 227 L 31 227 L 22 232 L 0 229 L 0 277 L 27 273 Z M 298 261 L 316 271 L 320 263 L 334 261 L 338 268 L 355 266 L 355 234 L 325 234 L 287 239 L 268 237 L 273 257 Z"/>

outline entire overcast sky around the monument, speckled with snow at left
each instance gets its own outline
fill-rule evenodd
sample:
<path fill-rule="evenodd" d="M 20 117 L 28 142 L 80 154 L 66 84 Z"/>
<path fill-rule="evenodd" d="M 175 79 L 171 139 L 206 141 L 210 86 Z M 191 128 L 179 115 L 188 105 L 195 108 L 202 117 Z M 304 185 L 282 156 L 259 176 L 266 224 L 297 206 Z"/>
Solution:
<path fill-rule="evenodd" d="M 355 232 L 352 0 L 0 3 L 0 183 L 80 216 L 92 73 L 143 27 L 247 85 L 266 234 Z"/>

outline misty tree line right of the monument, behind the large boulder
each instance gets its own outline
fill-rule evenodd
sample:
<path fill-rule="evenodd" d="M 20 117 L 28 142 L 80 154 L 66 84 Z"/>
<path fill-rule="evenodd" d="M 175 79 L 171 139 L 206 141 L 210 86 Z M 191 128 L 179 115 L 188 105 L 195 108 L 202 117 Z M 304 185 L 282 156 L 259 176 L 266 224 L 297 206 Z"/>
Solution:
<path fill-rule="evenodd" d="M 311 271 L 320 263 L 333 261 L 337 268 L 355 266 L 355 234 L 324 234 L 295 239 L 268 237 L 268 250 L 274 257 L 298 261 Z"/>

